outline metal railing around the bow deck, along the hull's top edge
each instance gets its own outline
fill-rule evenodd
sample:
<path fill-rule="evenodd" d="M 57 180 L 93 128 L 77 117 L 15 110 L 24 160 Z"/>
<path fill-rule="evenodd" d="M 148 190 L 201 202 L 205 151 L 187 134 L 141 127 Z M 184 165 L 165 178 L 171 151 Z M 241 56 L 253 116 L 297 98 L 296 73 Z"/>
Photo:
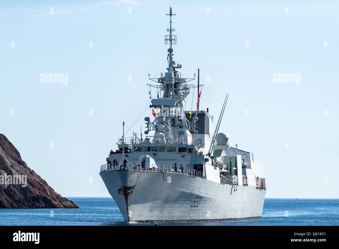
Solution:
<path fill-rule="evenodd" d="M 205 178 L 204 172 L 193 168 L 183 167 L 181 171 L 180 166 L 174 165 L 151 165 L 149 164 L 137 164 L 137 163 L 126 163 L 125 165 L 111 163 L 103 164 L 100 167 L 100 172 L 111 171 L 111 170 L 145 170 L 145 171 L 158 171 L 158 172 L 171 172 L 171 173 L 182 173 L 187 175 L 193 175 L 195 177 Z"/>

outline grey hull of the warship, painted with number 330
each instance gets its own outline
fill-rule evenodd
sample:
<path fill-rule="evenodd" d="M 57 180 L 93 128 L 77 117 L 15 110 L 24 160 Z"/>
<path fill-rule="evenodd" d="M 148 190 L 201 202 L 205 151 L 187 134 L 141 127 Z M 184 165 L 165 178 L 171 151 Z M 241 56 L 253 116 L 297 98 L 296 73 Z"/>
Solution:
<path fill-rule="evenodd" d="M 265 189 L 175 172 L 111 170 L 100 176 L 126 222 L 201 222 L 260 217 Z M 119 194 L 129 186 L 133 192 Z"/>

